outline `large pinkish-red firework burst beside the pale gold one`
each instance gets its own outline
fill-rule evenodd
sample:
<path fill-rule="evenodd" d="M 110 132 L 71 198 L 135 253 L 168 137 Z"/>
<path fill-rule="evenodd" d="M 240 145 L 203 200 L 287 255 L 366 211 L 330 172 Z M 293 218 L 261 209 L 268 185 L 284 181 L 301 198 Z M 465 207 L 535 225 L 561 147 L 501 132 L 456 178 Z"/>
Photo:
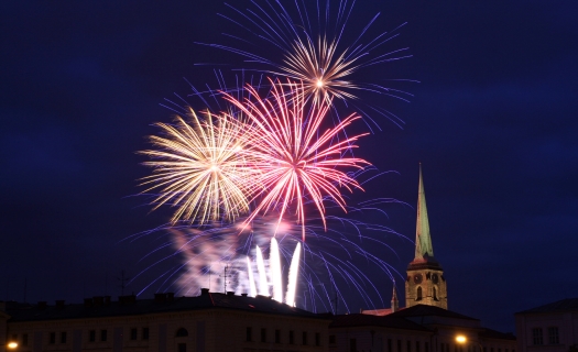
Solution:
<path fill-rule="evenodd" d="M 369 165 L 362 158 L 346 156 L 364 134 L 345 134 L 346 128 L 360 118 L 356 114 L 321 132 L 329 103 L 308 105 L 299 94 L 303 85 L 279 80 L 271 80 L 271 85 L 270 99 L 262 98 L 251 86 L 247 87 L 251 97 L 243 101 L 225 94 L 248 120 L 244 135 L 250 138 L 252 166 L 260 170 L 260 189 L 254 190 L 252 198 L 258 201 L 248 221 L 276 209 L 281 222 L 294 205 L 305 240 L 304 204 L 307 199 L 315 205 L 325 223 L 324 201 L 336 202 L 346 210 L 340 188 L 362 189 L 342 169 Z M 340 138 L 341 134 L 345 136 Z"/>

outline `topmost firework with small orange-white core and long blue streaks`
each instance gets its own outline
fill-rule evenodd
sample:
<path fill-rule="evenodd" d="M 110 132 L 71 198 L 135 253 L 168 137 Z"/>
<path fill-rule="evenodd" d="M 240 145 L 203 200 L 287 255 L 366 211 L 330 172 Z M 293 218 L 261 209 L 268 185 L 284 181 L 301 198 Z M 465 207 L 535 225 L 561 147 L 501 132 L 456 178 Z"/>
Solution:
<path fill-rule="evenodd" d="M 362 68 L 411 57 L 406 54 L 407 47 L 394 51 L 383 50 L 386 43 L 399 35 L 397 30 L 405 23 L 395 28 L 391 33 L 381 32 L 375 36 L 370 36 L 368 33 L 378 20 L 380 15 L 378 13 L 357 37 L 351 37 L 350 29 L 346 28 L 353 10 L 353 3 L 355 1 L 340 0 L 338 7 L 335 8 L 337 10 L 334 11 L 329 6 L 330 1 L 327 0 L 325 7 L 317 2 L 316 11 L 312 11 L 310 8 L 307 9 L 305 2 L 299 6 L 299 2 L 295 1 L 293 15 L 281 1 L 266 1 L 262 6 L 253 2 L 257 9 L 248 9 L 246 12 L 228 4 L 237 15 L 241 16 L 241 21 L 236 20 L 235 16 L 220 15 L 240 26 L 240 33 L 247 33 L 248 38 L 241 38 L 238 35 L 227 36 L 239 40 L 241 43 L 250 42 L 258 47 L 260 46 L 258 42 L 261 42 L 266 45 L 268 55 L 275 52 L 269 48 L 276 48 L 282 53 L 281 62 L 270 59 L 268 55 L 263 56 L 239 48 L 238 45 L 198 44 L 241 55 L 246 58 L 246 63 L 264 67 L 259 66 L 255 68 L 258 72 L 303 81 L 303 94 L 312 98 L 315 103 L 324 100 L 328 102 L 332 98 L 356 99 L 356 91 L 360 90 L 388 95 L 406 101 L 406 98 L 412 96 L 408 92 L 385 87 L 382 84 L 363 82 L 356 79 L 356 74 Z M 247 24 L 243 24 L 246 22 Z M 257 42 L 253 43 L 253 40 Z M 390 119 L 395 118 L 384 110 L 378 112 L 388 114 Z"/>

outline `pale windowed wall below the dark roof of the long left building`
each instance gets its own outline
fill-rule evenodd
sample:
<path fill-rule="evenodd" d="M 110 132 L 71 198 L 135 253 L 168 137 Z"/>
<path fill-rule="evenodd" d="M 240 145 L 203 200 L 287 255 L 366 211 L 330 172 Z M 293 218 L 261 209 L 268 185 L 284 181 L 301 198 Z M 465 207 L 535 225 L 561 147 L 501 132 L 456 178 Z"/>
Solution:
<path fill-rule="evenodd" d="M 19 346 L 22 352 L 178 352 L 178 344 L 186 343 L 186 351 L 328 351 L 327 329 L 329 320 L 301 317 L 243 312 L 226 309 L 204 309 L 87 319 L 51 321 L 24 321 L 8 324 L 8 334 L 20 342 L 24 334 L 28 344 Z M 1 324 L 1 320 L 0 320 Z M 247 341 L 247 328 L 252 328 L 253 341 Z M 149 339 L 143 339 L 143 328 Z M 178 329 L 187 330 L 187 337 L 176 337 Z M 261 342 L 261 329 L 266 329 L 266 341 Z M 138 329 L 131 339 L 131 329 Z M 101 331 L 107 341 L 100 341 Z M 275 330 L 281 332 L 281 343 L 275 343 Z M 295 333 L 294 344 L 288 343 L 288 331 Z M 6 330 L 3 330 L 6 331 Z M 90 331 L 96 341 L 91 342 Z M 303 332 L 307 344 L 303 345 Z M 66 341 L 62 342 L 62 333 Z M 55 340 L 51 341 L 54 333 Z M 320 345 L 315 345 L 319 333 Z"/>

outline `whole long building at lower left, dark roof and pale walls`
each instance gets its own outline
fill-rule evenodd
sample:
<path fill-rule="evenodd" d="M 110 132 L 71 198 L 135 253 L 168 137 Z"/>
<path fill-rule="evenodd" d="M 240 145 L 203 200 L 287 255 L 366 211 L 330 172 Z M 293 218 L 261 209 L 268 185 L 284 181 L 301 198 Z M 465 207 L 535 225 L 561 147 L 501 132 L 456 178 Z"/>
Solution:
<path fill-rule="evenodd" d="M 18 351 L 327 351 L 330 318 L 269 297 L 157 294 L 108 297 L 84 305 L 8 302 L 8 340 Z"/>

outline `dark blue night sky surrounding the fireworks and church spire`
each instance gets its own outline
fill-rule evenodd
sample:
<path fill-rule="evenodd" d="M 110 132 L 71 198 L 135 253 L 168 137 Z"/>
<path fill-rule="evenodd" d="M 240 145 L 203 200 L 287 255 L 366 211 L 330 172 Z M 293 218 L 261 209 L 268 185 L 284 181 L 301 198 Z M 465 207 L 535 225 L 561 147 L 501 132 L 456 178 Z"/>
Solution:
<path fill-rule="evenodd" d="M 233 14 L 212 0 L 0 4 L 0 299 L 116 297 L 122 271 L 133 277 L 151 264 L 140 260 L 161 233 L 124 239 L 165 223 L 171 210 L 151 212 L 137 196 L 150 169 L 135 152 L 157 132 L 152 123 L 173 118 L 165 98 L 186 98 L 187 81 L 216 86 L 214 68 L 235 77 L 244 67 L 195 44 L 242 35 L 219 12 Z M 407 22 L 383 50 L 410 47 L 412 57 L 358 77 L 414 97 L 359 95 L 404 123 L 377 117 L 382 131 L 356 153 L 391 173 L 356 197 L 406 202 L 384 206 L 389 217 L 378 221 L 413 240 L 422 163 L 450 310 L 513 331 L 514 312 L 576 297 L 578 4 L 360 0 L 351 28 L 378 12 L 373 33 Z M 413 243 L 390 239 L 396 255 L 383 258 L 404 275 Z M 373 279 L 389 300 L 391 280 Z"/>

